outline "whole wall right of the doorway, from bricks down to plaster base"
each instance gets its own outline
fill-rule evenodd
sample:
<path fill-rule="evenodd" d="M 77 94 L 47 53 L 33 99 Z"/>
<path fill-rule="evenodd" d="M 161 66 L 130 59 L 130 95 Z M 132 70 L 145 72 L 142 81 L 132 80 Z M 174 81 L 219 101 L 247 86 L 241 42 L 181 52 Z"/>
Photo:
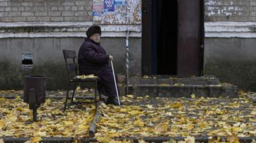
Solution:
<path fill-rule="evenodd" d="M 255 0 L 205 0 L 205 74 L 256 91 L 255 25 Z"/>

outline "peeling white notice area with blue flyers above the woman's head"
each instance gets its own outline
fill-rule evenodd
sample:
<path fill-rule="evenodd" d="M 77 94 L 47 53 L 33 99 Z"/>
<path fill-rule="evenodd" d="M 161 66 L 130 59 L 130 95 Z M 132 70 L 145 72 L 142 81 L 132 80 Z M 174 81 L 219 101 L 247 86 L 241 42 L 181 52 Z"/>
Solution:
<path fill-rule="evenodd" d="M 141 0 L 93 0 L 93 9 L 94 24 L 141 24 Z"/>

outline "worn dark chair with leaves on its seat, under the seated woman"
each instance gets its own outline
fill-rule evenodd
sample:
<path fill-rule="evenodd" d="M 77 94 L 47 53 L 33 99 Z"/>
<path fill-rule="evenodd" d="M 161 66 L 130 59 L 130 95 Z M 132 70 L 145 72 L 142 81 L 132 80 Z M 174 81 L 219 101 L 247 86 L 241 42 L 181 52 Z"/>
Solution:
<path fill-rule="evenodd" d="M 67 74 L 69 76 L 69 86 L 71 86 L 72 83 L 74 84 L 71 102 L 73 103 L 75 89 L 77 88 L 77 84 L 79 84 L 80 82 L 93 82 L 95 85 L 94 86 L 94 88 L 95 88 L 94 101 L 95 101 L 95 108 L 96 108 L 97 107 L 97 80 L 98 80 L 98 77 L 95 76 L 94 78 L 84 78 L 84 79 L 78 78 L 77 77 L 78 76 L 78 74 L 77 74 L 78 73 L 78 65 L 76 63 L 76 61 L 77 61 L 76 52 L 63 49 L 63 55 L 64 55 L 64 59 L 65 59 Z M 69 86 L 67 88 L 67 95 L 66 95 L 65 104 L 64 104 L 64 111 L 66 110 L 67 100 L 69 98 L 69 90 L 70 90 Z"/>

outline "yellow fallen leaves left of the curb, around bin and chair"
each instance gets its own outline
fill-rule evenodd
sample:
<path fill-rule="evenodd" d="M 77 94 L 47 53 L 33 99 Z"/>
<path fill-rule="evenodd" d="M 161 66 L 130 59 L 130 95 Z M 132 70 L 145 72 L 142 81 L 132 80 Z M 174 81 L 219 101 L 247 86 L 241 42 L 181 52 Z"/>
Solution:
<path fill-rule="evenodd" d="M 32 111 L 20 96 L 0 98 L 0 137 L 86 137 L 94 117 L 94 102 L 70 105 L 63 113 L 63 100 L 47 99 L 38 108 L 38 122 L 32 123 Z"/>

